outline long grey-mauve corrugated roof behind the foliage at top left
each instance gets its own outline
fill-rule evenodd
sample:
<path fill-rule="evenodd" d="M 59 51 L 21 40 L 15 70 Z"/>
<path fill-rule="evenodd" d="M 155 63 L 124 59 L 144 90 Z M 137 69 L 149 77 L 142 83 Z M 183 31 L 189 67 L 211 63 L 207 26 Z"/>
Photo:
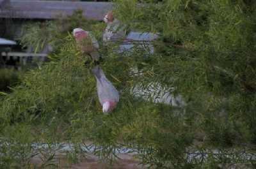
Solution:
<path fill-rule="evenodd" d="M 74 10 L 83 10 L 84 17 L 102 20 L 106 12 L 113 9 L 113 3 L 106 2 L 9 1 L 5 5 L 0 4 L 0 18 L 54 19 L 60 14 L 71 15 Z"/>

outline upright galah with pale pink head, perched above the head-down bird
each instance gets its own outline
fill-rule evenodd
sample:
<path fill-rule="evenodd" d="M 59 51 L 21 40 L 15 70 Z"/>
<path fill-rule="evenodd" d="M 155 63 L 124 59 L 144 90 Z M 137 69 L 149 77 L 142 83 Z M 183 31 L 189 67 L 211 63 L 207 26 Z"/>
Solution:
<path fill-rule="evenodd" d="M 92 33 L 76 28 L 73 30 L 73 36 L 76 39 L 77 47 L 83 54 L 88 54 L 94 61 L 99 61 L 99 43 Z"/>

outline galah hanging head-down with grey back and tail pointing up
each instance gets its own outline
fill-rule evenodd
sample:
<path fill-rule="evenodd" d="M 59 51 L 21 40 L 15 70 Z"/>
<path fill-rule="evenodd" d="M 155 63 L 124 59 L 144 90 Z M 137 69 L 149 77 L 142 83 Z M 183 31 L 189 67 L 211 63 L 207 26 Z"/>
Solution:
<path fill-rule="evenodd" d="M 119 101 L 119 94 L 116 88 L 106 78 L 104 72 L 99 66 L 92 69 L 92 73 L 97 80 L 97 93 L 100 104 L 102 105 L 102 112 L 109 113 Z"/>

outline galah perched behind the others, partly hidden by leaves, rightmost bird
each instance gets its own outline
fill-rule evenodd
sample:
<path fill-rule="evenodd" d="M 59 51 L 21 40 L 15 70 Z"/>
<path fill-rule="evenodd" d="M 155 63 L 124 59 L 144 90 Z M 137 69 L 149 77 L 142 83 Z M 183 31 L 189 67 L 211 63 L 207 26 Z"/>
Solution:
<path fill-rule="evenodd" d="M 113 11 L 109 11 L 103 20 L 108 24 L 103 33 L 104 42 L 122 40 L 122 38 L 125 38 L 124 26 L 121 26 L 120 21 L 113 17 Z"/>

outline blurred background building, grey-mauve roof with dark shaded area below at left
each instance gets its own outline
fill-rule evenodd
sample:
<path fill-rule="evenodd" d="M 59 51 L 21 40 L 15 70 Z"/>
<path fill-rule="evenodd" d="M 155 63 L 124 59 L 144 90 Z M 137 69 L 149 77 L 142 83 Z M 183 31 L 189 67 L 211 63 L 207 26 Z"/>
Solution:
<path fill-rule="evenodd" d="M 36 58 L 45 61 L 45 54 L 51 52 L 51 46 L 34 54 L 32 47 L 22 48 L 19 39 L 22 34 L 22 25 L 28 22 L 45 22 L 61 16 L 72 15 L 76 10 L 83 10 L 84 17 L 92 20 L 102 20 L 108 10 L 112 10 L 113 4 L 99 1 L 33 1 L 33 0 L 0 0 L 0 37 L 17 41 L 12 52 L 2 55 L 4 59 L 14 59 L 26 64 Z M 22 53 L 23 52 L 23 53 Z M 24 54 L 26 53 L 26 54 Z M 2 56 L 3 57 L 3 56 Z"/>

